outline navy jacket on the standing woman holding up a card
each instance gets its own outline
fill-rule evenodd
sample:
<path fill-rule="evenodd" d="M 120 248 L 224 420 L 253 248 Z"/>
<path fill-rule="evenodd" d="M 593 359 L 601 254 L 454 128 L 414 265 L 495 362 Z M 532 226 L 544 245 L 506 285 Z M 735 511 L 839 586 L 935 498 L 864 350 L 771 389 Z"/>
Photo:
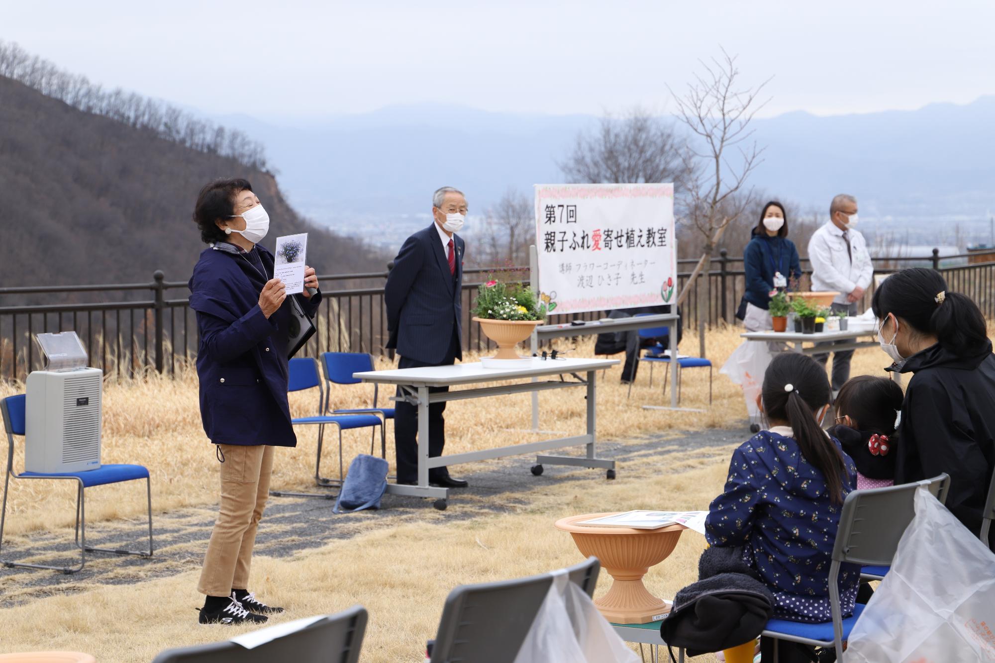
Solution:
<path fill-rule="evenodd" d="M 291 303 L 267 320 L 259 295 L 273 277 L 273 254 L 256 256 L 205 249 L 190 278 L 190 308 L 200 337 L 197 377 L 204 432 L 215 444 L 297 446 L 287 402 L 287 349 Z M 308 315 L 320 294 L 297 297 Z"/>

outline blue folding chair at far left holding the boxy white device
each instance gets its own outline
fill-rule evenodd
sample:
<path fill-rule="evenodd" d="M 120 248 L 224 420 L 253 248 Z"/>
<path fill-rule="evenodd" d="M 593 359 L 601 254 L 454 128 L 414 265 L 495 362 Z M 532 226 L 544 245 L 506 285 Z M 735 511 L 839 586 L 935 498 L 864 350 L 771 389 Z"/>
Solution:
<path fill-rule="evenodd" d="M 0 559 L 8 567 L 20 566 L 23 568 L 49 568 L 61 570 L 64 573 L 75 573 L 82 570 L 87 563 L 87 552 L 110 552 L 112 554 L 134 554 L 140 557 L 152 556 L 152 484 L 148 476 L 148 470 L 141 465 L 101 465 L 96 470 L 85 470 L 82 472 L 60 472 L 56 474 L 43 474 L 40 472 L 14 472 L 14 436 L 25 434 L 25 405 L 27 397 L 24 394 L 7 396 L 0 400 L 0 412 L 3 414 L 3 426 L 7 431 L 7 473 L 3 488 L 3 510 L 0 511 L 0 548 L 3 547 L 3 529 L 7 519 L 7 493 L 10 489 L 10 480 L 13 479 L 66 479 L 77 482 L 76 493 L 76 546 L 80 549 L 80 565 L 76 568 L 67 566 L 51 566 L 47 564 L 29 564 L 20 561 L 9 561 Z M 145 480 L 145 498 L 148 503 L 148 552 L 145 551 L 124 551 L 106 548 L 93 548 L 87 546 L 87 512 L 85 490 L 93 486 L 105 486 L 107 484 L 119 484 L 124 481 L 136 479 Z"/>

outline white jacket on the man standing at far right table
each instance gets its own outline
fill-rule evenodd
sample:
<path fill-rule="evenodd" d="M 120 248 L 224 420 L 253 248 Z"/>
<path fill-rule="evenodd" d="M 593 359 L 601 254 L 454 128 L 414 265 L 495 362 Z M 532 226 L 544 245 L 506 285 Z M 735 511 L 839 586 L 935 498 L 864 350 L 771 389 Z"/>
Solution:
<path fill-rule="evenodd" d="M 815 231 L 809 240 L 809 261 L 812 263 L 812 290 L 837 291 L 833 301 L 847 304 L 847 296 L 858 287 L 867 290 L 874 275 L 871 254 L 864 235 L 848 230 L 850 254 L 843 231 L 832 221 Z"/>

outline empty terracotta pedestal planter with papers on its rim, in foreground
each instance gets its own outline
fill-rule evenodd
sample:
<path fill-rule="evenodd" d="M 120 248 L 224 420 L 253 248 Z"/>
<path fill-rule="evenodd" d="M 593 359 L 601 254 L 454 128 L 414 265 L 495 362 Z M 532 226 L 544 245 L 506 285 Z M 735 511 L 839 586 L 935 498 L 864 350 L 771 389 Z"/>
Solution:
<path fill-rule="evenodd" d="M 659 564 L 674 552 L 681 533 L 687 528 L 671 525 L 659 530 L 631 530 L 575 525 L 579 521 L 612 515 L 570 516 L 556 521 L 555 527 L 569 532 L 581 554 L 596 556 L 614 578 L 608 593 L 594 601 L 605 619 L 616 624 L 659 621 L 671 608 L 646 589 L 643 576 L 650 566 Z"/>

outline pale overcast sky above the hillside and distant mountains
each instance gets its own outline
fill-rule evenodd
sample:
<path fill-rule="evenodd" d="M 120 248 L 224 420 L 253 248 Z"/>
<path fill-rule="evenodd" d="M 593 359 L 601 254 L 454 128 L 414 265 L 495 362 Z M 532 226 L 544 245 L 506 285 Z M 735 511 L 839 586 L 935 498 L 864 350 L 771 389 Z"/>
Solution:
<path fill-rule="evenodd" d="M 673 110 L 698 59 L 774 77 L 762 114 L 995 94 L 995 3 L 0 0 L 0 39 L 104 86 L 208 112 L 391 105 Z"/>

